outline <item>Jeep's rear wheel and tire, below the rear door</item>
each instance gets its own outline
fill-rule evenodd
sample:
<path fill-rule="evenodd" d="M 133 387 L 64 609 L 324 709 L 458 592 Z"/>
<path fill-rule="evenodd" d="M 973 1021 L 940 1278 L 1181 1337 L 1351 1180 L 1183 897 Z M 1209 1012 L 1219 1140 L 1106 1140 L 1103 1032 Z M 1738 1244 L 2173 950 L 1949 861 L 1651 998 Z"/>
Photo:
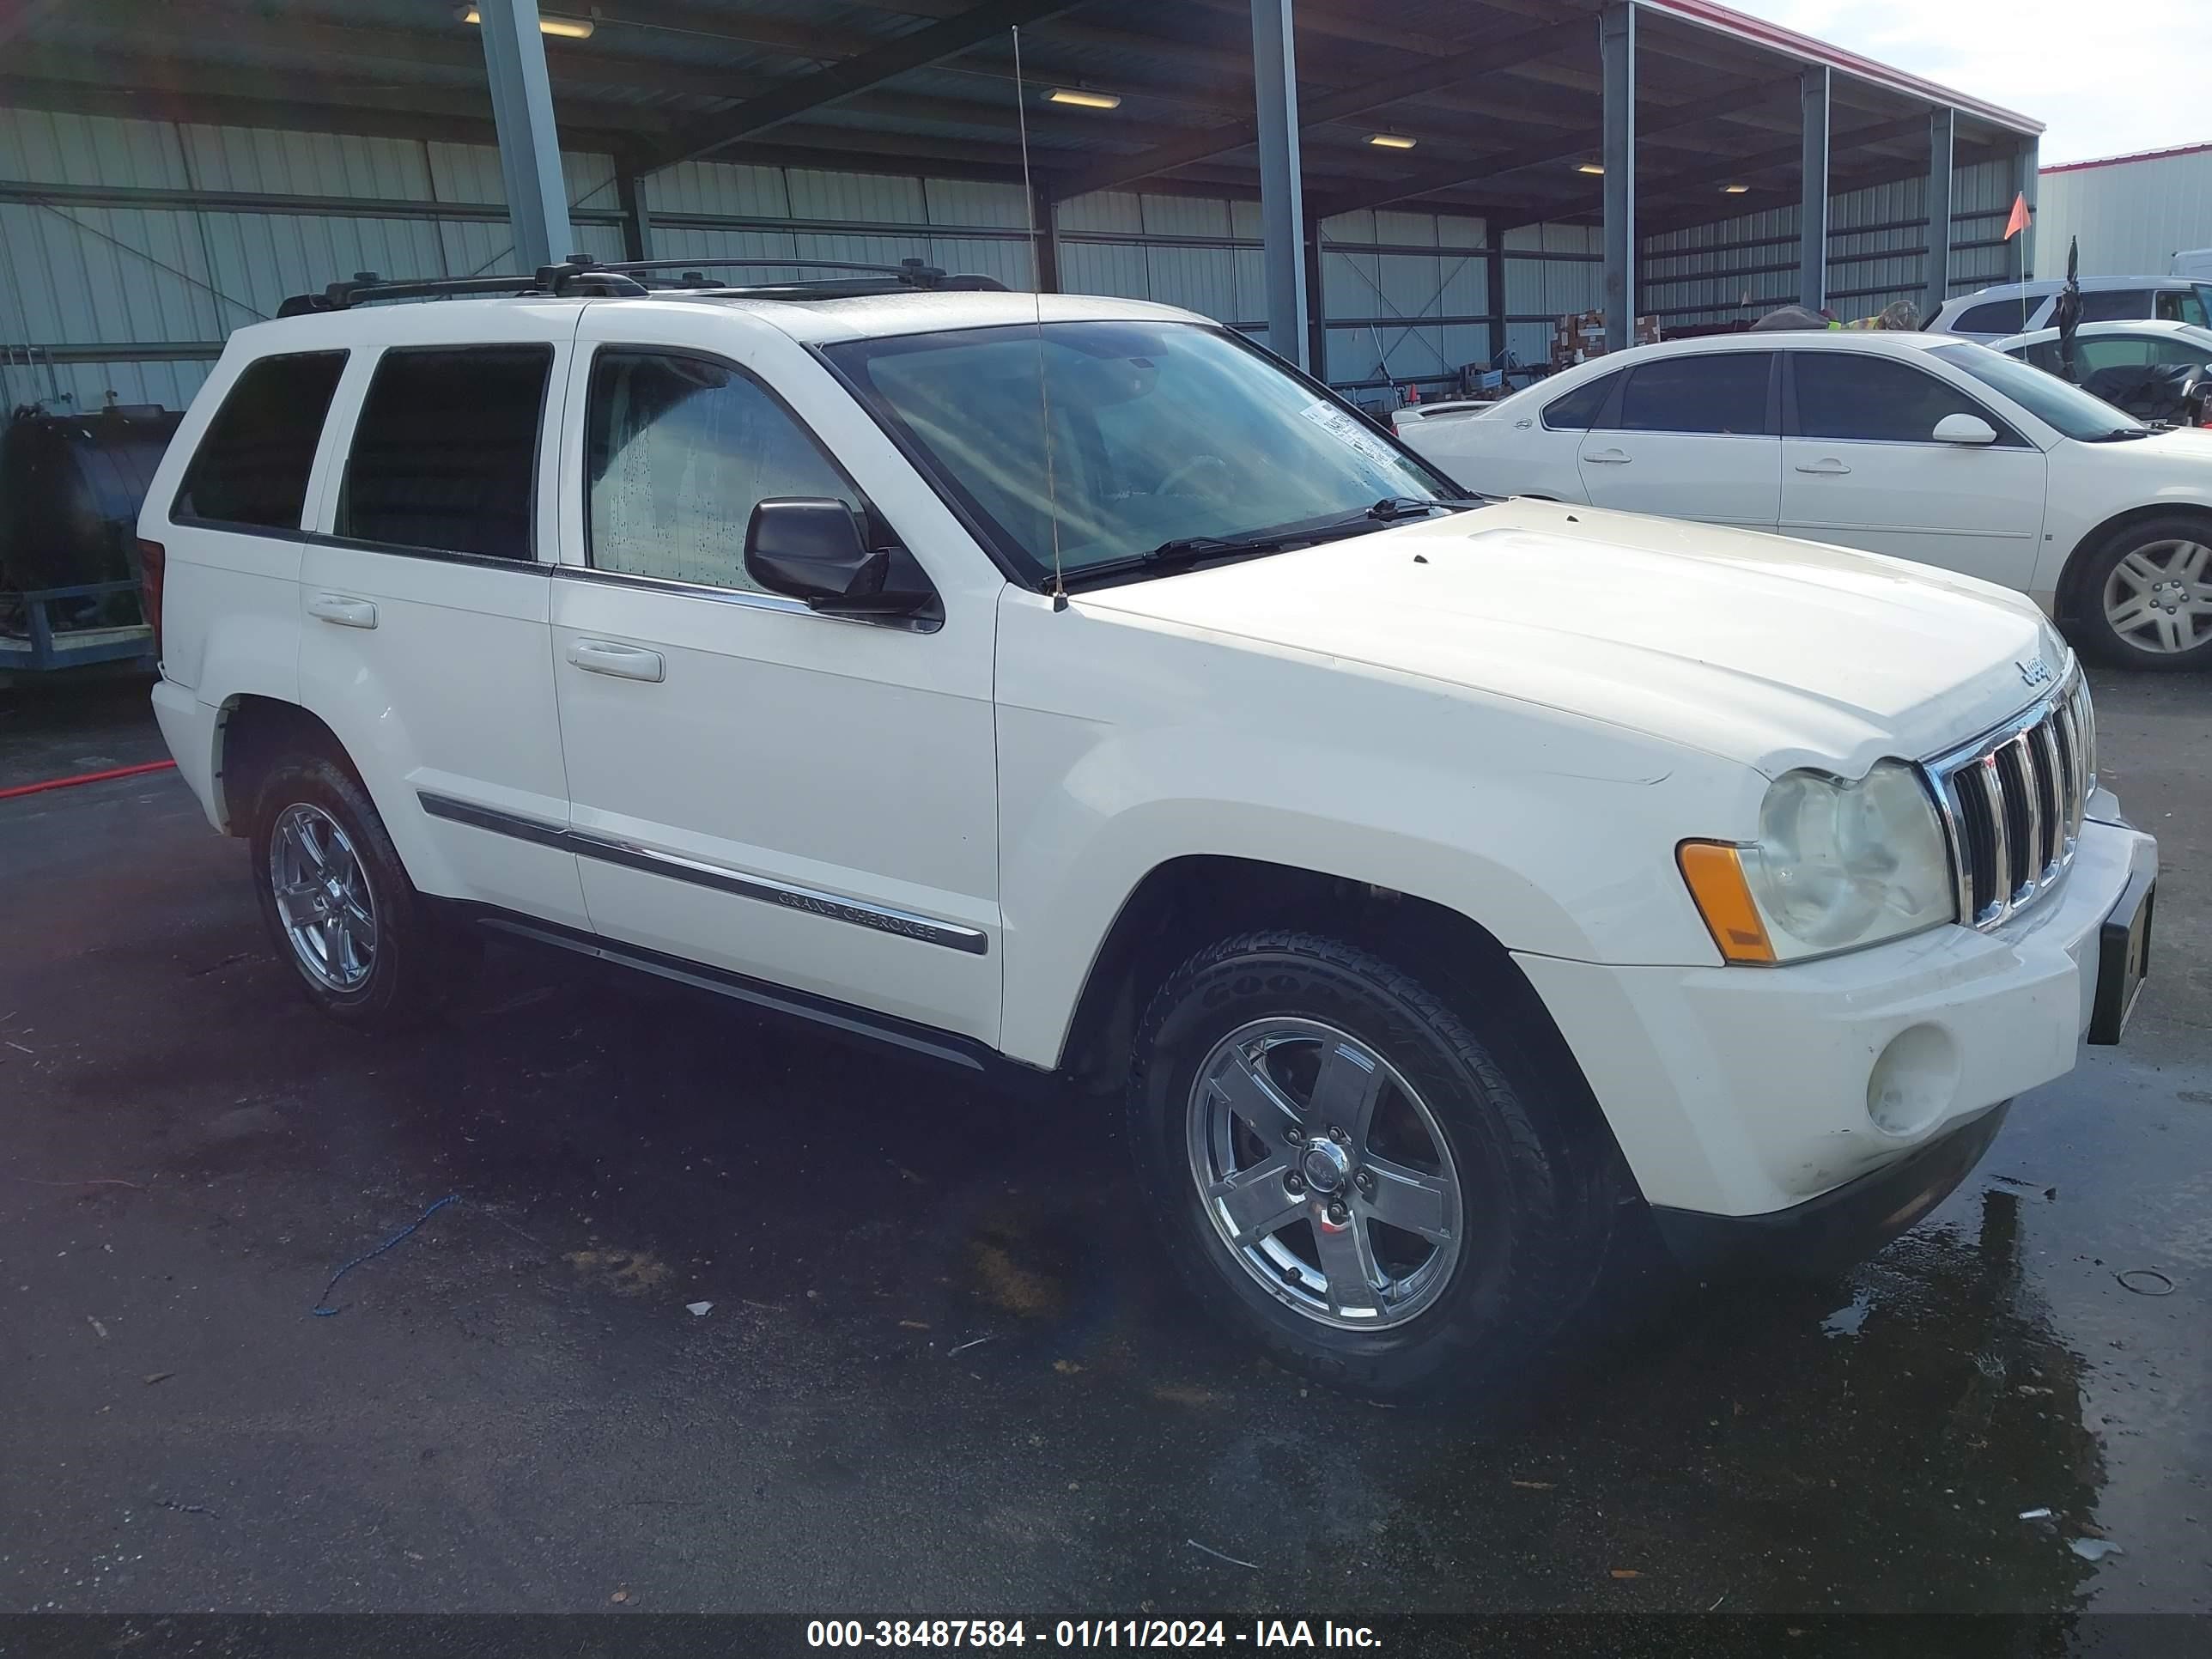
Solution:
<path fill-rule="evenodd" d="M 438 1006 L 456 953 L 349 770 L 279 761 L 250 841 L 261 918 L 310 1002 L 358 1031 L 400 1031 Z"/>

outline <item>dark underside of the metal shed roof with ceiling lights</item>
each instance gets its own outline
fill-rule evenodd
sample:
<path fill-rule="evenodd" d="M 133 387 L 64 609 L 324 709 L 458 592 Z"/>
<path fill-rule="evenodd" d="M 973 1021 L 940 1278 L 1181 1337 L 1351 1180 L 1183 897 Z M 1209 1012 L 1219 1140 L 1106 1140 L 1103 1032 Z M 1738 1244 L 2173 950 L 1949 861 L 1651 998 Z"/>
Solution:
<path fill-rule="evenodd" d="M 1637 4 L 1641 232 L 1796 201 L 1809 64 L 1832 71 L 1838 192 L 1922 173 L 1931 108 L 1955 111 L 1960 166 L 2042 131 L 1710 0 Z M 462 11 L 20 0 L 0 15 L 0 102 L 484 139 L 484 53 Z M 1259 190 L 1245 0 L 544 0 L 540 11 L 584 35 L 544 42 L 564 142 L 608 148 L 633 173 L 714 157 L 1018 177 L 1020 24 L 1031 166 L 1048 195 Z M 1595 219 L 1604 179 L 1582 168 L 1599 164 L 1597 11 L 1599 0 L 1298 0 L 1310 210 L 1418 201 L 1506 226 Z M 1119 102 L 1051 102 L 1053 88 Z"/>

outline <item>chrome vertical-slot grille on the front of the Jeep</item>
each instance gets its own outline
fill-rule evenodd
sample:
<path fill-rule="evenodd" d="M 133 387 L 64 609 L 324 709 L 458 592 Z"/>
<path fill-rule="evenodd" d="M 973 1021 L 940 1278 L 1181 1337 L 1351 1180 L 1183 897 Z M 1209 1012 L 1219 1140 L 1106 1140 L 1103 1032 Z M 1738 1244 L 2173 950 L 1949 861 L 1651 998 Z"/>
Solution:
<path fill-rule="evenodd" d="M 2097 787 L 2097 723 L 2081 670 L 1993 732 L 1927 763 L 1958 914 L 1991 929 L 2057 885 Z"/>

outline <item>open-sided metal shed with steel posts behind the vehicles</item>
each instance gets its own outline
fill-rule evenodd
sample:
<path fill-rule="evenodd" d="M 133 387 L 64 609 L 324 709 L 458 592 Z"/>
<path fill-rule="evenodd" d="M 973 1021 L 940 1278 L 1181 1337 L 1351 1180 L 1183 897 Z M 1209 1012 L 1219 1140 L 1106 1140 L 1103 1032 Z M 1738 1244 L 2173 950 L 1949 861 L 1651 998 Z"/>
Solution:
<path fill-rule="evenodd" d="M 285 294 L 542 239 L 920 257 L 1440 387 L 1608 294 L 1681 327 L 2015 276 L 2037 133 L 1710 0 L 13 0 L 0 400 L 181 407 Z"/>

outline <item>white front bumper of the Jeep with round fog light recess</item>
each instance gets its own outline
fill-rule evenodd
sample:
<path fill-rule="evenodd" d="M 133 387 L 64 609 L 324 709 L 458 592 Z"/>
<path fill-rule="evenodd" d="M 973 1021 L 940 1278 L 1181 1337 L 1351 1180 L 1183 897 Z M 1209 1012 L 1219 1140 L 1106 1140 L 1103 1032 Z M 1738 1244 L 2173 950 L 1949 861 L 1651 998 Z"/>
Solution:
<path fill-rule="evenodd" d="M 2110 796 L 2099 803 L 2117 818 Z M 2064 883 L 1991 933 L 1940 927 L 1781 969 L 1517 960 L 1644 1197 L 1772 1217 L 2073 1071 L 2104 922 L 2154 872 L 2150 836 L 2090 821 Z"/>

